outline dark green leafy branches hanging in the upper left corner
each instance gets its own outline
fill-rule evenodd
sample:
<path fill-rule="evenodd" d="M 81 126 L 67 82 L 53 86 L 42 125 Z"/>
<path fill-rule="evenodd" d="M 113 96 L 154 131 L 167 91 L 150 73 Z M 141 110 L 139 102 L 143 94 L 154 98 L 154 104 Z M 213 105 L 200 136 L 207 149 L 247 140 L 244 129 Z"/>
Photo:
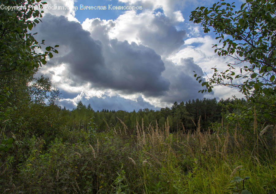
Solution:
<path fill-rule="evenodd" d="M 46 47 L 45 53 L 36 53 L 35 49 L 41 49 L 44 40 L 38 43 L 33 37 L 34 34 L 28 33 L 41 20 L 43 10 L 34 10 L 29 6 L 42 7 L 46 2 L 36 3 L 33 0 L 3 0 L 3 6 L 26 6 L 28 9 L 1 9 L 0 10 L 0 73 L 13 70 L 29 73 L 34 69 L 46 64 L 46 56 L 53 57 L 52 52 L 58 53 L 58 47 Z"/>

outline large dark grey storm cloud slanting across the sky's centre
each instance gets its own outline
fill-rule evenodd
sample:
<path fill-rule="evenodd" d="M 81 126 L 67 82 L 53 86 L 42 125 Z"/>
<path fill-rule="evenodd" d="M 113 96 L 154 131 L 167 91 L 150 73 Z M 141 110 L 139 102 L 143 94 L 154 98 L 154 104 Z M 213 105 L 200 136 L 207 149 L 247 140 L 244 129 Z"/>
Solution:
<path fill-rule="evenodd" d="M 35 30 L 39 32 L 37 39 L 45 39 L 47 45 L 60 45 L 59 54 L 48 64 L 68 64 L 63 76 L 74 80 L 75 86 L 89 82 L 101 89 L 149 95 L 168 91 L 170 83 L 161 76 L 164 63 L 149 47 L 117 39 L 95 40 L 79 23 L 50 14 L 43 17 L 43 23 Z"/>

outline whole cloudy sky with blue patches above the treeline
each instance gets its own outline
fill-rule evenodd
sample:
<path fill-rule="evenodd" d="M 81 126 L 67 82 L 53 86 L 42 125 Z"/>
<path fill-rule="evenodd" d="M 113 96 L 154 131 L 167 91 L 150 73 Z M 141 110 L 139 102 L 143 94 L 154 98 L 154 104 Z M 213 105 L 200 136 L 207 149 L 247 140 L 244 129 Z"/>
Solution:
<path fill-rule="evenodd" d="M 81 100 L 93 110 L 159 110 L 192 99 L 243 97 L 236 89 L 211 93 L 194 78 L 227 68 L 231 58 L 218 56 L 213 32 L 189 21 L 198 6 L 211 0 L 46 0 L 42 23 L 32 32 L 46 46 L 59 45 L 37 76 L 52 80 L 61 92 L 60 106 L 72 110 Z M 226 2 L 232 2 L 226 0 Z M 242 0 L 236 0 L 240 7 Z M 68 7 L 60 10 L 58 6 Z M 73 7 L 75 6 L 75 9 Z M 93 6 L 93 9 L 84 9 Z M 106 6 L 95 10 L 94 6 Z M 116 10 L 113 6 L 135 6 Z M 52 7 L 49 9 L 49 7 Z M 140 9 L 140 7 L 142 9 Z M 110 9 L 109 9 L 110 8 Z"/>

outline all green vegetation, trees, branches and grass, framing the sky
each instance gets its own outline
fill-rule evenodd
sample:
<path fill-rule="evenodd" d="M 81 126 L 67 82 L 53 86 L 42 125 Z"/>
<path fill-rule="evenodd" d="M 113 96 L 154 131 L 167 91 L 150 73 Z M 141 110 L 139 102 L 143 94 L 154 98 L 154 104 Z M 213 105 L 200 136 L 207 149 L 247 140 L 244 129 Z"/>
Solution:
<path fill-rule="evenodd" d="M 40 12 L 1 9 L 0 192 L 276 193 L 276 19 L 271 17 L 276 4 L 247 0 L 231 13 L 233 6 L 221 1 L 197 8 L 190 18 L 204 32 L 218 32 L 225 45 L 214 45 L 215 52 L 236 52 L 251 66 L 240 74 L 233 64 L 225 72 L 213 68 L 208 80 L 194 76 L 205 87 L 202 92 L 223 85 L 239 88 L 246 98 L 190 99 L 132 112 L 93 110 L 82 101 L 73 110 L 61 107 L 59 89 L 37 76 L 59 47 L 36 53 L 44 40 L 38 43 L 28 30 L 40 22 Z M 258 25 L 243 22 L 242 14 L 251 14 Z M 256 26 L 258 33 L 252 30 Z M 248 37 L 256 39 L 255 46 Z M 246 81 L 235 84 L 235 77 Z"/>

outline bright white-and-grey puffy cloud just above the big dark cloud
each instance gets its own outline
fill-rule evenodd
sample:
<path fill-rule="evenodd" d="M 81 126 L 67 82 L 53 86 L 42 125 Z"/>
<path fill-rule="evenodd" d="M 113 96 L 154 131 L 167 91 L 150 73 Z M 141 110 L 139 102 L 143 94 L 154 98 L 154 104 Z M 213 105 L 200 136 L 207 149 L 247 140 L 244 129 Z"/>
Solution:
<path fill-rule="evenodd" d="M 135 11 L 128 11 L 115 22 L 116 28 L 109 33 L 111 37 L 147 45 L 160 55 L 178 51 L 186 37 L 185 30 L 178 31 L 173 21 L 160 12 L 136 14 Z"/>

